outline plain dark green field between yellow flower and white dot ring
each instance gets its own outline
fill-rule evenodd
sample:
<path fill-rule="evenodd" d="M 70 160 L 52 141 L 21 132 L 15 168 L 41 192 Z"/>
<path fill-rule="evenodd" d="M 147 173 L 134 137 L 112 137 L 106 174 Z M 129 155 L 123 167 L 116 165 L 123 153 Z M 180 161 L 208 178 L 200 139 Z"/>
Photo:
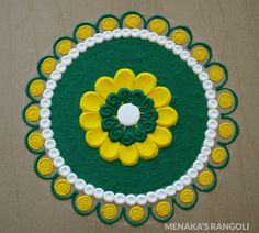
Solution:
<path fill-rule="evenodd" d="M 156 158 L 139 159 L 132 167 L 102 159 L 87 145 L 79 125 L 82 93 L 93 90 L 99 77 L 114 77 L 121 68 L 154 74 L 157 85 L 171 91 L 170 106 L 179 114 L 170 129 L 173 142 Z M 50 111 L 57 148 L 71 170 L 94 187 L 125 195 L 166 187 L 185 174 L 200 153 L 207 121 L 204 90 L 192 69 L 171 51 L 139 38 L 111 40 L 80 54 L 55 89 Z"/>

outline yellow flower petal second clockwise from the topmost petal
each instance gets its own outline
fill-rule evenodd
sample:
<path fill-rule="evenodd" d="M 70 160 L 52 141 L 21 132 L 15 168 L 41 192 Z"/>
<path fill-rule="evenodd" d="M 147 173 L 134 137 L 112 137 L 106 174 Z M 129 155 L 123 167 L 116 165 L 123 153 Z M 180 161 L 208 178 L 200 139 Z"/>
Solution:
<path fill-rule="evenodd" d="M 170 90 L 166 87 L 156 87 L 148 97 L 154 100 L 155 108 L 168 106 L 172 99 Z"/>

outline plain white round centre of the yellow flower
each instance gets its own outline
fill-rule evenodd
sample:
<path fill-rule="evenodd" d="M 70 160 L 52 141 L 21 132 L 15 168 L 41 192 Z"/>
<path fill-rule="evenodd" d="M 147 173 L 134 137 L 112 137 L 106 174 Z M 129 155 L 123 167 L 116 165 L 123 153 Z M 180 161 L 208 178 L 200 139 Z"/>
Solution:
<path fill-rule="evenodd" d="M 139 121 L 140 111 L 136 106 L 132 103 L 125 103 L 119 108 L 117 119 L 124 126 L 133 126 Z"/>

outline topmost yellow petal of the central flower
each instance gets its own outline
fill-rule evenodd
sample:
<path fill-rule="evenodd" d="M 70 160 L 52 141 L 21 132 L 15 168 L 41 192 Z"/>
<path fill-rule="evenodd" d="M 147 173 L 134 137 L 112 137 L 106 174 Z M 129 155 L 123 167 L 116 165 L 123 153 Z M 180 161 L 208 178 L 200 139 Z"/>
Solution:
<path fill-rule="evenodd" d="M 115 88 L 119 90 L 120 88 L 128 88 L 132 89 L 133 81 L 135 79 L 135 74 L 132 69 L 120 69 L 115 74 L 114 77 L 114 85 Z"/>

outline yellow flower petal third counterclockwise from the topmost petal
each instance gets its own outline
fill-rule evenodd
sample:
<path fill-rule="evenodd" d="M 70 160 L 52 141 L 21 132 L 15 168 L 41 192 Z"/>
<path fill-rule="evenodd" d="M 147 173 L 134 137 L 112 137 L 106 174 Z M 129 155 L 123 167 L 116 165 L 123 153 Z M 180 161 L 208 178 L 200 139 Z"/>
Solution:
<path fill-rule="evenodd" d="M 79 121 L 81 127 L 86 131 L 101 127 L 101 116 L 99 112 L 83 112 Z"/>

